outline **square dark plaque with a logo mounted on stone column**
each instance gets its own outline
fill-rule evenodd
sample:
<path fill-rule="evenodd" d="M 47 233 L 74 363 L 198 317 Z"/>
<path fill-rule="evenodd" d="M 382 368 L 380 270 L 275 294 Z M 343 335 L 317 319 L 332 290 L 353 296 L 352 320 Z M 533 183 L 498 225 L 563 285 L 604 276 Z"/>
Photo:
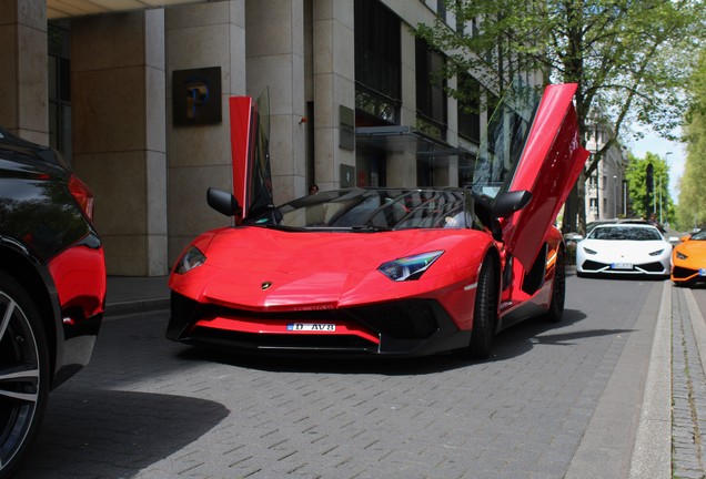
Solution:
<path fill-rule="evenodd" d="M 221 67 L 174 70 L 172 108 L 174 125 L 220 123 Z"/>

